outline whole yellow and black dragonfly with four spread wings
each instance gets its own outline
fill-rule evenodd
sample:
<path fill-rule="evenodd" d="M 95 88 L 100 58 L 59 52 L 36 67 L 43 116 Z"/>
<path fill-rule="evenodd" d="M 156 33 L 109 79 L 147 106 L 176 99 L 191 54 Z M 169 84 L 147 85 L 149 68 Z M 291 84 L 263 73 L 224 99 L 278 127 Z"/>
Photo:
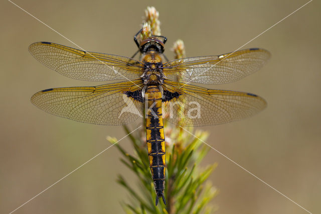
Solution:
<path fill-rule="evenodd" d="M 125 125 L 144 118 L 155 205 L 158 198 L 166 204 L 164 116 L 178 126 L 209 126 L 262 111 L 266 101 L 253 93 L 207 89 L 190 83 L 237 81 L 259 70 L 270 53 L 250 48 L 168 61 L 164 57 L 166 37 L 152 35 L 138 42 L 138 33 L 134 42 L 139 60 L 52 42 L 31 44 L 30 53 L 62 75 L 87 81 L 121 80 L 98 86 L 45 89 L 35 93 L 31 101 L 47 113 L 83 123 Z"/>

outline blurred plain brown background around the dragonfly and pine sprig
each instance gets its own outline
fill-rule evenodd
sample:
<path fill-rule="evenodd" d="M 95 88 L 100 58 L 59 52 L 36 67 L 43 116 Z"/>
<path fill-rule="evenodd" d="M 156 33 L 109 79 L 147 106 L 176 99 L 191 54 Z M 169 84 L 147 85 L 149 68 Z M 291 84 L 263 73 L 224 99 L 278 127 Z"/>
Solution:
<path fill-rule="evenodd" d="M 160 13 L 167 55 L 177 39 L 188 56 L 232 52 L 307 1 L 22 1 L 19 6 L 85 50 L 131 56 L 132 36 L 147 6 Z M 0 212 L 9 213 L 110 144 L 121 127 L 82 124 L 37 109 L 30 97 L 62 86 L 99 85 L 64 77 L 28 52 L 33 42 L 75 47 L 7 1 L 0 3 Z M 267 109 L 220 126 L 207 143 L 309 211 L 321 213 L 321 4 L 313 1 L 244 48 L 269 50 L 259 72 L 209 88 L 263 96 Z M 130 150 L 128 139 L 120 142 Z M 128 195 L 116 175 L 132 174 L 111 148 L 15 213 L 122 213 Z M 210 180 L 220 190 L 217 213 L 307 213 L 215 151 Z M 135 185 L 136 181 L 132 180 Z"/>

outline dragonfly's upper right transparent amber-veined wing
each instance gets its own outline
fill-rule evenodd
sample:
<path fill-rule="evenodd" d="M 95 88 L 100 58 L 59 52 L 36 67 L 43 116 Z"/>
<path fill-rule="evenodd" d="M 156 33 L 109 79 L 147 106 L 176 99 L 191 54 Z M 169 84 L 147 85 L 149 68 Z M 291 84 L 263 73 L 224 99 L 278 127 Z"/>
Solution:
<path fill-rule="evenodd" d="M 163 67 L 165 75 L 172 80 L 223 84 L 259 70 L 269 58 L 268 51 L 251 48 L 219 56 L 176 59 L 165 63 Z"/>

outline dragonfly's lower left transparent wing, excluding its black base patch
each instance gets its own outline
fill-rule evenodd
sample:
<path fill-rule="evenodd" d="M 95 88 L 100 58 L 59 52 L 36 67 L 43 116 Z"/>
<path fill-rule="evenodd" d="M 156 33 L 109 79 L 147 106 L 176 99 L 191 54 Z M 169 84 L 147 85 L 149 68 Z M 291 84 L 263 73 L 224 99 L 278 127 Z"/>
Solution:
<path fill-rule="evenodd" d="M 38 108 L 63 118 L 100 125 L 129 124 L 142 115 L 142 102 L 126 91 L 140 89 L 141 80 L 96 87 L 51 88 L 31 97 Z"/>

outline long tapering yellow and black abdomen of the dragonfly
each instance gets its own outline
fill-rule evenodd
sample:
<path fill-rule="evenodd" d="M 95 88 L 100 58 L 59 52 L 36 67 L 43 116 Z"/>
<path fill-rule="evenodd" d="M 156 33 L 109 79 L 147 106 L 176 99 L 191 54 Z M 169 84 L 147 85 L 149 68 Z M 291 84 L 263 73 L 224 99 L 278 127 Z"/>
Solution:
<path fill-rule="evenodd" d="M 165 189 L 165 136 L 162 118 L 162 92 L 158 86 L 151 85 L 145 90 L 146 102 L 146 142 L 149 166 L 156 190 L 156 202 L 162 197 L 164 203 Z"/>

